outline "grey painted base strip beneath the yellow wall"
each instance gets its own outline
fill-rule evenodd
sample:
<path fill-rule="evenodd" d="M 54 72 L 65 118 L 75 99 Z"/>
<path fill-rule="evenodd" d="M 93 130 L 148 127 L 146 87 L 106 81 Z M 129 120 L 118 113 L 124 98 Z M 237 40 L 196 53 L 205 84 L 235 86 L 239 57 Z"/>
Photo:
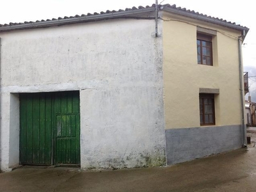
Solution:
<path fill-rule="evenodd" d="M 241 125 L 167 129 L 167 164 L 241 148 L 241 135 Z"/>

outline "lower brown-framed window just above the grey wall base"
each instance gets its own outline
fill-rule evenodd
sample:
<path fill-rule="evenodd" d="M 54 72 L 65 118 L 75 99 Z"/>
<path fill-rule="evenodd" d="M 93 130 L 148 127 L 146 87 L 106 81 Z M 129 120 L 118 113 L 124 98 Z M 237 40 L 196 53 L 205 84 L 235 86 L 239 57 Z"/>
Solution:
<path fill-rule="evenodd" d="M 199 94 L 200 125 L 215 125 L 214 94 Z"/>

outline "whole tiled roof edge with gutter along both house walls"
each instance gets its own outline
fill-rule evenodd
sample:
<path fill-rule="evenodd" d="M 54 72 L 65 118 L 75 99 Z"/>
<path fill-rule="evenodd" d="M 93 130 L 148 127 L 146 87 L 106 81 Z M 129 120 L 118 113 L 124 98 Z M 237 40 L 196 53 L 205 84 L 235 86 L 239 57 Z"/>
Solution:
<path fill-rule="evenodd" d="M 152 4 L 152 6 L 138 6 L 132 7 L 132 8 L 125 8 L 125 10 L 113 10 L 106 12 L 100 12 L 100 13 L 87 13 L 86 15 L 75 15 L 70 17 L 58 17 L 58 19 L 46 19 L 46 20 L 36 20 L 35 22 L 32 21 L 25 21 L 25 22 L 10 22 L 9 24 L 0 24 L 0 32 L 1 31 L 11 31 L 14 29 L 26 29 L 26 28 L 42 28 L 45 26 L 58 26 L 61 24 L 72 24 L 76 22 L 86 22 L 90 20 L 100 20 L 100 19 L 113 19 L 116 17 L 124 17 L 128 15 L 128 13 L 142 13 L 142 12 L 151 12 L 154 11 L 156 7 L 156 4 Z M 214 22 L 216 24 L 220 24 L 223 26 L 231 27 L 231 28 L 239 28 L 239 29 L 245 29 L 248 31 L 249 29 L 243 26 L 240 26 L 239 24 L 236 24 L 235 22 L 228 22 L 227 20 L 219 19 L 218 17 L 211 17 L 208 15 L 204 15 L 202 13 L 195 12 L 193 10 L 187 10 L 186 8 L 177 7 L 175 4 L 163 4 L 158 6 L 160 10 L 166 10 L 170 12 L 175 12 L 177 14 L 186 15 L 188 17 L 194 17 L 196 19 L 202 19 L 209 22 Z M 102 17 L 105 16 L 105 17 Z M 207 20 L 208 19 L 208 20 Z"/>

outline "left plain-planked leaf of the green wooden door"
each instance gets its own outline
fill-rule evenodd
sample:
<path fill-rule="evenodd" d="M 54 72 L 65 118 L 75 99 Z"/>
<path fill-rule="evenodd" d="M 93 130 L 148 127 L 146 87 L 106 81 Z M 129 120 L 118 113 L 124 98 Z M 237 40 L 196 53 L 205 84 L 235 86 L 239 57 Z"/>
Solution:
<path fill-rule="evenodd" d="M 20 94 L 20 164 L 51 164 L 51 97 Z"/>

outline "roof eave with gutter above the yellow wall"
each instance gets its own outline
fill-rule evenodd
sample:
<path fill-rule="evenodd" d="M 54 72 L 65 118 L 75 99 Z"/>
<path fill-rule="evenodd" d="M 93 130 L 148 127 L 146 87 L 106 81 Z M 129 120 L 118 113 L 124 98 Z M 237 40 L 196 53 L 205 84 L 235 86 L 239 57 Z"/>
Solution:
<path fill-rule="evenodd" d="M 237 29 L 239 31 L 241 31 L 241 33 L 243 33 L 243 31 L 245 31 L 245 34 L 248 33 L 249 29 L 243 26 L 237 26 L 236 24 L 232 24 L 226 21 L 222 21 L 222 20 L 218 20 L 218 19 L 214 19 L 211 17 L 205 17 L 204 15 L 197 15 L 195 13 L 189 13 L 189 12 L 184 12 L 183 10 L 177 10 L 177 9 L 173 9 L 173 8 L 169 8 L 166 6 L 162 6 L 161 10 L 166 11 L 166 12 L 170 12 L 170 13 L 175 13 L 175 14 L 179 14 L 182 16 L 186 16 L 186 17 L 192 17 L 193 19 L 198 19 L 198 20 L 204 20 L 206 22 L 211 22 L 214 24 L 218 24 L 221 26 L 225 26 L 228 28 L 232 28 L 232 29 Z"/>

